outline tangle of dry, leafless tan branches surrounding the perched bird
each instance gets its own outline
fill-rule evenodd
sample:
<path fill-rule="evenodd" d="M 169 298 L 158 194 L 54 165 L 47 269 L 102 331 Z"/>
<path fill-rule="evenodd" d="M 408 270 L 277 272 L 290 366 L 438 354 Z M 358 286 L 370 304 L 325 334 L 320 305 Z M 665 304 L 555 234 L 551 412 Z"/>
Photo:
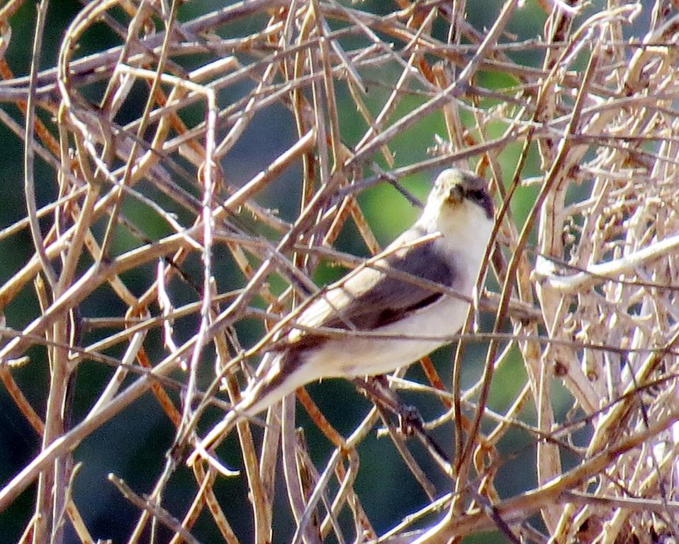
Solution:
<path fill-rule="evenodd" d="M 18 40 L 12 14 L 21 4 L 0 9 L 3 54 Z M 2 112 L 2 121 L 30 144 L 28 212 L 0 232 L 12 244 L 30 232 L 34 251 L 0 288 L 0 375 L 42 440 L 0 492 L 5 510 L 34 490 L 24 538 L 92 541 L 82 499 L 69 492 L 74 452 L 112 419 L 134 425 L 144 397 L 176 433 L 169 448 L 151 444 L 158 467 L 165 459 L 152 489 L 111 476 L 138 508 L 125 525 L 132 542 L 150 538 L 151 525 L 164 528 L 155 533 L 163 541 L 281 541 L 271 536 L 274 496 L 288 502 L 293 528 L 282 531 L 295 542 L 434 543 L 481 531 L 513 541 L 676 540 L 676 3 L 507 0 L 487 29 L 467 22 L 464 1 L 395 0 L 378 14 L 378 3 L 249 0 L 201 16 L 180 4 L 91 2 L 72 19 L 55 67 L 34 62 L 29 77 L 13 77 L 3 61 L 0 96 L 22 115 Z M 526 13 L 542 14 L 542 35 L 507 30 Z M 79 52 L 102 29 L 118 45 Z M 516 60 L 529 57 L 539 60 Z M 445 131 L 437 140 L 432 123 Z M 272 155 L 252 152 L 252 130 L 293 136 Z M 404 163 L 397 145 L 417 152 L 403 152 Z M 237 149 L 249 149 L 259 174 L 237 175 Z M 49 203 L 36 196 L 38 159 L 52 169 L 40 182 L 50 184 Z M 321 263 L 356 265 L 332 249 L 346 225 L 378 251 L 359 193 L 405 191 L 406 176 L 451 164 L 491 180 L 499 226 L 488 278 L 499 289 L 481 293 L 451 368 L 426 359 L 425 378 L 391 380 L 414 404 L 433 398 L 438 417 L 409 438 L 386 407 L 370 404 L 341 433 L 300 391 L 303 432 L 291 424 L 295 399 L 271 409 L 263 438 L 257 424 L 240 425 L 229 447 L 240 447 L 252 519 L 237 536 L 233 504 L 246 495 L 220 495 L 228 477 L 184 460 L 271 343 L 263 328 L 245 346 L 239 334 L 284 324 L 315 289 Z M 293 202 L 293 217 L 269 209 L 266 194 Z M 19 295 L 40 312 L 17 317 Z M 86 310 L 97 306 L 99 314 Z M 493 319 L 474 329 L 479 313 Z M 473 357 L 468 346 L 477 346 Z M 15 379 L 45 368 L 41 357 L 50 371 L 44 408 Z M 517 357 L 524 383 L 500 413 L 489 393 L 511 391 L 498 375 Z M 484 358 L 463 389 L 463 361 Z M 109 365 L 109 381 L 69 421 L 62 406 L 79 383 L 69 378 L 85 361 Z M 361 470 L 374 470 L 361 465 L 361 447 L 378 426 L 387 431 L 381 447 L 403 459 L 392 474 L 424 497 L 381 534 L 364 504 L 385 488 L 356 485 Z M 329 455 L 309 453 L 312 435 Z M 498 491 L 516 458 L 532 458 L 534 472 Z M 179 475 L 193 482 L 181 506 L 170 499 Z"/>

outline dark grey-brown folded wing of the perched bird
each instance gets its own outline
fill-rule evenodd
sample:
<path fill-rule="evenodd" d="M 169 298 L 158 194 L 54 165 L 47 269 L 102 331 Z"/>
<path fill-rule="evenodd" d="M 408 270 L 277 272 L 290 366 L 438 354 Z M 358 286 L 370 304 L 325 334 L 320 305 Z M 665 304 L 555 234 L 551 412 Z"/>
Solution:
<path fill-rule="evenodd" d="M 452 263 L 439 254 L 434 242 L 432 240 L 413 246 L 403 254 L 391 254 L 384 259 L 381 266 L 451 287 L 456 278 L 456 271 Z M 443 296 L 432 288 L 408 281 L 403 274 L 400 276 L 402 277 L 397 278 L 387 272 L 366 293 L 354 297 L 344 306 L 341 314 L 334 312 L 326 317 L 320 322 L 320 327 L 371 331 L 432 305 Z M 337 289 L 341 289 L 341 286 Z M 296 340 L 293 346 L 298 349 L 310 348 L 325 339 L 327 336 L 307 332 Z"/>

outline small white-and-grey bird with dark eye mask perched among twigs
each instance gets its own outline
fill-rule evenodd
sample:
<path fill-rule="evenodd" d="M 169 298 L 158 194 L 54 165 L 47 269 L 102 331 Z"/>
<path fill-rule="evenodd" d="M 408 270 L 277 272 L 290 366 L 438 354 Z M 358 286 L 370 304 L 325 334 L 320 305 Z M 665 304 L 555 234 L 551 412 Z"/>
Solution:
<path fill-rule="evenodd" d="M 412 227 L 380 258 L 347 273 L 300 312 L 294 322 L 299 328 L 264 355 L 240 401 L 196 446 L 189 464 L 205 457 L 237 421 L 298 387 L 321 378 L 388 373 L 449 343 L 464 324 L 492 230 L 486 181 L 469 171 L 442 171 Z"/>

